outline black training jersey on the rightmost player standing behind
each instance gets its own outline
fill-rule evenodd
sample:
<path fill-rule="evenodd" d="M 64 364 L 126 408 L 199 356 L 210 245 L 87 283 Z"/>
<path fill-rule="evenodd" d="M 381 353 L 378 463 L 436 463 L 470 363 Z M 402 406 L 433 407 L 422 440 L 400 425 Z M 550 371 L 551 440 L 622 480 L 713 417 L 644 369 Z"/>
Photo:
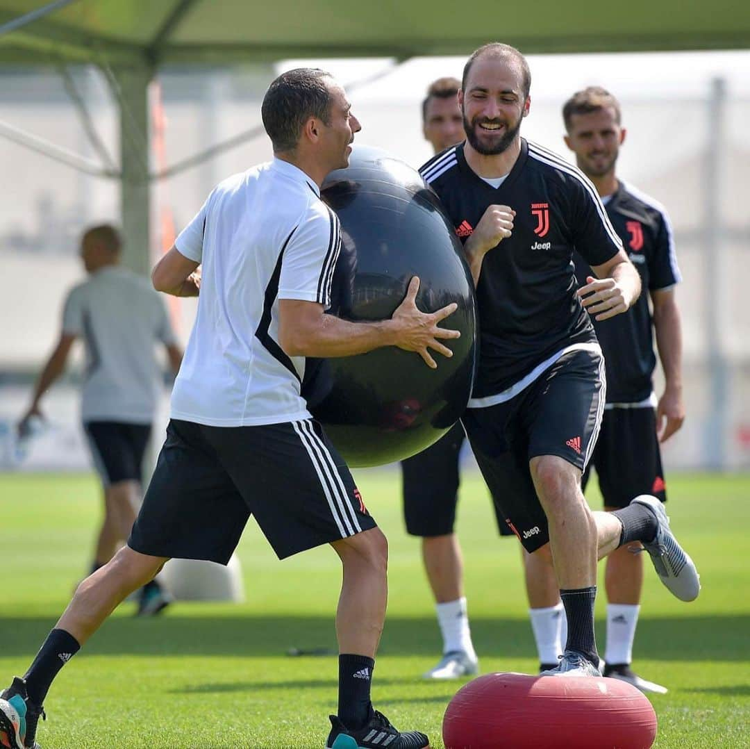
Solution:
<path fill-rule="evenodd" d="M 625 314 L 594 320 L 607 366 L 607 403 L 638 403 L 653 390 L 656 366 L 649 291 L 668 289 L 682 280 L 674 253 L 674 237 L 664 206 L 631 185 L 619 183 L 605 206 L 615 231 L 640 273 L 641 293 Z M 590 275 L 589 263 L 576 254 L 579 284 Z"/>

